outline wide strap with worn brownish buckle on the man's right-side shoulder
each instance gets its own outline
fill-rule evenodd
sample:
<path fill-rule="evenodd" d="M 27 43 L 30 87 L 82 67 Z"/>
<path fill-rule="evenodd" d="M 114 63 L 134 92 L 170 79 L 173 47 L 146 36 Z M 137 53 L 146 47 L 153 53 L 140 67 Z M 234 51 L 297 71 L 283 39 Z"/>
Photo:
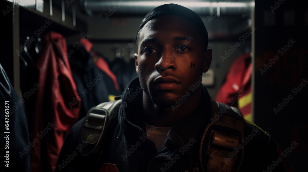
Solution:
<path fill-rule="evenodd" d="M 241 112 L 211 100 L 211 123 L 203 133 L 199 158 L 202 171 L 237 172 L 244 158 L 244 119 Z"/>

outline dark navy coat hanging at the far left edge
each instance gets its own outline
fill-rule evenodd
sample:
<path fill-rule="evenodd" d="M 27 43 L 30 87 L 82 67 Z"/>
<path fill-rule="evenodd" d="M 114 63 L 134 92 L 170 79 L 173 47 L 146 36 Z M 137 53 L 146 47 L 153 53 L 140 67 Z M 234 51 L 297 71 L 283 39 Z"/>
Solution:
<path fill-rule="evenodd" d="M 26 116 L 22 108 L 25 101 L 18 99 L 1 64 L 0 100 L 0 136 L 3 145 L 1 152 L 4 159 L 2 169 L 3 171 L 30 172 L 30 141 Z"/>

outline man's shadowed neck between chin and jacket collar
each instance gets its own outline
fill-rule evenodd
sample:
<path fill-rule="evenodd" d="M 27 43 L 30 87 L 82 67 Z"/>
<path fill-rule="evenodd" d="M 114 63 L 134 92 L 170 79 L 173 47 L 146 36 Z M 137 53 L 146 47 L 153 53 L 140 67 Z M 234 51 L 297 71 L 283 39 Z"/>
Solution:
<path fill-rule="evenodd" d="M 194 109 L 197 108 L 201 95 L 202 87 L 189 96 L 179 107 L 173 106 L 160 107 L 154 104 L 143 92 L 143 111 L 145 114 L 145 122 L 156 127 L 173 127 L 182 119 L 186 118 Z"/>

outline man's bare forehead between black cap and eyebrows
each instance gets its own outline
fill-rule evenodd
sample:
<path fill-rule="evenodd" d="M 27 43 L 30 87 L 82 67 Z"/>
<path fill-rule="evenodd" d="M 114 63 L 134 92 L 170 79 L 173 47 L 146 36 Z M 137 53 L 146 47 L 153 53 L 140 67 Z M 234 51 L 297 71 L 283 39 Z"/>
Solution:
<path fill-rule="evenodd" d="M 194 41 L 201 41 L 201 32 L 188 19 L 176 15 L 163 15 L 148 21 L 139 31 L 138 42 L 148 37 L 193 37 Z M 165 37 L 167 38 L 167 37 Z"/>

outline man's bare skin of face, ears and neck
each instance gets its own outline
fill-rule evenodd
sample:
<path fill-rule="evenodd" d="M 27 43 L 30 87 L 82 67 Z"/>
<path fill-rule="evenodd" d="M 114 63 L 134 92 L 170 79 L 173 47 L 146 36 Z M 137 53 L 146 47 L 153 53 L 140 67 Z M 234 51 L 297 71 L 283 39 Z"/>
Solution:
<path fill-rule="evenodd" d="M 172 127 L 197 107 L 202 87 L 194 91 L 189 88 L 200 81 L 202 72 L 209 70 L 212 50 L 204 47 L 207 40 L 199 29 L 180 16 L 152 19 L 138 34 L 135 62 L 143 89 L 145 122 Z M 187 92 L 187 100 L 172 109 Z"/>

